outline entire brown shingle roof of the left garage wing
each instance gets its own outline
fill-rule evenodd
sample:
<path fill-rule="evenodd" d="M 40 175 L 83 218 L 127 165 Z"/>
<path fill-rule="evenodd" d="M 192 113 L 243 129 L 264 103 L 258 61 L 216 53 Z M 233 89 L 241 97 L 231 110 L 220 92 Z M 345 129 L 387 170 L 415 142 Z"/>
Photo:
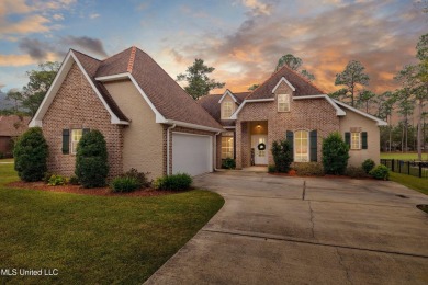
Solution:
<path fill-rule="evenodd" d="M 95 78 L 129 72 L 166 119 L 222 128 L 150 56 L 135 46 L 102 61 L 81 53 L 75 54 L 109 106 L 121 119 L 125 119 L 125 114 Z"/>

